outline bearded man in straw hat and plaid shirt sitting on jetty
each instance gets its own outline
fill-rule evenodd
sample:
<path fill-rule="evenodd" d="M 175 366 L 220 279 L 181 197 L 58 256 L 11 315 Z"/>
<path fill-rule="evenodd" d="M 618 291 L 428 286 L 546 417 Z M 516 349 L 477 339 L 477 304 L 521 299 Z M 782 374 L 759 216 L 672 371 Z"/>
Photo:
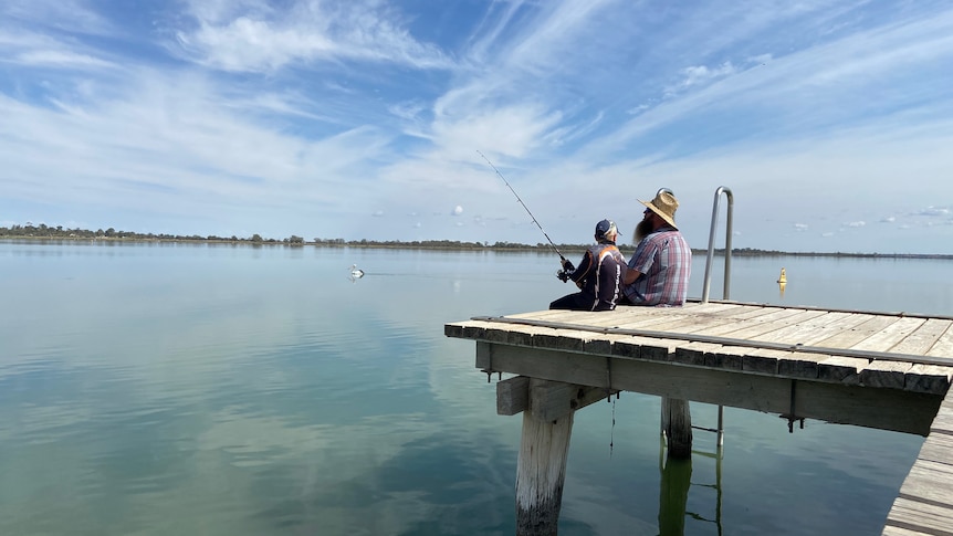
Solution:
<path fill-rule="evenodd" d="M 622 275 L 620 304 L 682 306 L 692 270 L 692 250 L 676 227 L 679 201 L 668 190 L 646 206 L 641 229 L 648 234 L 637 244 Z M 638 232 L 637 232 L 638 234 Z"/>

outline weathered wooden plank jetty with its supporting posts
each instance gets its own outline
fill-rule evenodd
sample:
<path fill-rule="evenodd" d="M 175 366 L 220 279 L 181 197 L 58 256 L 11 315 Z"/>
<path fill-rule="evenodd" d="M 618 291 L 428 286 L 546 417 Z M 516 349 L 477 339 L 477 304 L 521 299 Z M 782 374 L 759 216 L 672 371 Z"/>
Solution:
<path fill-rule="evenodd" d="M 720 301 L 475 317 L 444 334 L 476 343 L 498 413 L 523 413 L 516 534 L 556 533 L 575 411 L 636 391 L 662 397 L 669 455 L 691 454 L 690 401 L 924 435 L 883 534 L 953 535 L 951 326 Z"/>

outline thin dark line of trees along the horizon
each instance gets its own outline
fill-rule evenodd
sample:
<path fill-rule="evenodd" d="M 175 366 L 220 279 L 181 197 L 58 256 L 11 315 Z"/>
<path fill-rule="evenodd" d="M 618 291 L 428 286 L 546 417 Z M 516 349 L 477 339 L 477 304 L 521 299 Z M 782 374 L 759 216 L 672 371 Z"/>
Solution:
<path fill-rule="evenodd" d="M 88 229 L 66 229 L 62 225 L 50 227 L 43 223 L 39 225 L 12 225 L 10 228 L 0 227 L 0 239 L 40 239 L 40 240 L 103 240 L 103 241 L 142 241 L 142 242 L 190 242 L 190 243 L 245 243 L 252 245 L 292 245 L 304 246 L 315 245 L 322 248 L 394 248 L 394 249 L 434 249 L 434 250 L 552 250 L 553 246 L 547 243 L 538 242 L 536 244 L 523 244 L 519 242 L 461 242 L 459 240 L 344 240 L 344 239 L 322 239 L 315 238 L 312 241 L 306 241 L 302 237 L 292 234 L 284 239 L 266 239 L 255 233 L 249 238 L 217 237 L 209 234 L 206 237 L 199 234 L 181 235 L 181 234 L 156 234 L 156 233 L 138 233 L 133 231 L 117 231 L 113 228 L 106 230 L 98 229 L 91 231 Z M 588 244 L 557 244 L 556 249 L 561 252 L 582 252 L 588 248 Z M 629 246 L 629 249 L 633 249 Z M 724 249 L 715 249 L 714 252 L 719 255 L 724 254 Z M 692 248 L 694 254 L 706 254 L 706 249 Z M 835 258 L 880 258 L 880 259 L 947 259 L 953 260 L 953 254 L 922 254 L 922 253 L 847 253 L 847 252 L 792 252 L 779 250 L 758 250 L 753 248 L 733 248 L 731 250 L 733 256 L 835 256 Z"/>

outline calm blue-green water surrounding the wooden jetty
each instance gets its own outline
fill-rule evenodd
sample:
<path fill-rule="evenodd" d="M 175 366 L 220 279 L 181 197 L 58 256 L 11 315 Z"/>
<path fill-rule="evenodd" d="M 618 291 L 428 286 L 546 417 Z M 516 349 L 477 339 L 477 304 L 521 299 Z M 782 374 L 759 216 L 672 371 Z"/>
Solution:
<path fill-rule="evenodd" d="M 350 281 L 352 263 L 367 275 Z M 536 253 L 0 243 L 0 534 L 512 534 L 521 418 L 495 414 L 473 344 L 443 324 L 545 308 L 569 290 L 557 267 Z M 950 315 L 949 271 L 735 258 L 731 297 Z M 692 296 L 703 274 L 697 259 Z M 715 408 L 692 408 L 714 425 Z M 697 432 L 691 464 L 662 472 L 658 416 L 635 393 L 576 416 L 561 534 L 880 534 L 922 444 L 726 409 L 720 471 L 714 435 Z"/>

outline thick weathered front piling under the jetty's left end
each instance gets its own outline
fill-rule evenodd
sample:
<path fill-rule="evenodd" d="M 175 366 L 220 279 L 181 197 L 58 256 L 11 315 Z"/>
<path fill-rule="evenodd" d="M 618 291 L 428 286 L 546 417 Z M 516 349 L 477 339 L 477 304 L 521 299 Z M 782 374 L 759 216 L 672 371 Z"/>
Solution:
<path fill-rule="evenodd" d="M 516 535 L 555 535 L 563 503 L 573 412 L 554 421 L 523 412 L 516 463 Z"/>

